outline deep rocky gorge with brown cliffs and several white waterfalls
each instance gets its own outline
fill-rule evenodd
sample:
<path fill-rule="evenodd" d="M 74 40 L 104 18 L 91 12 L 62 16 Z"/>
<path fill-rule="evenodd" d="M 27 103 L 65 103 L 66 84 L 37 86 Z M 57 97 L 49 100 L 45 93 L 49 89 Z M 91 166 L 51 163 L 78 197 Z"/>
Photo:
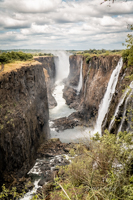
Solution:
<path fill-rule="evenodd" d="M 1 182 L 25 176 L 48 138 L 70 143 L 105 129 L 132 131 L 132 69 L 119 55 L 87 63 L 83 55 L 52 53 L 0 76 Z"/>

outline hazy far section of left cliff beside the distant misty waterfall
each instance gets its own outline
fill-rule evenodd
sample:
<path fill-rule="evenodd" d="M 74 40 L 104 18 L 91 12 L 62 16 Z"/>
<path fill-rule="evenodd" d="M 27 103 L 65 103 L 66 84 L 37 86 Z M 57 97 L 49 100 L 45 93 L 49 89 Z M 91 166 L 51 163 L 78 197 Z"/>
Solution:
<path fill-rule="evenodd" d="M 35 60 L 39 61 L 44 68 L 44 74 L 46 77 L 46 84 L 47 84 L 49 108 L 54 108 L 55 106 L 57 106 L 57 102 L 52 95 L 52 92 L 54 89 L 54 83 L 55 83 L 55 76 L 56 76 L 54 59 L 55 58 L 52 56 L 51 57 L 48 57 L 48 56 L 35 57 Z"/>

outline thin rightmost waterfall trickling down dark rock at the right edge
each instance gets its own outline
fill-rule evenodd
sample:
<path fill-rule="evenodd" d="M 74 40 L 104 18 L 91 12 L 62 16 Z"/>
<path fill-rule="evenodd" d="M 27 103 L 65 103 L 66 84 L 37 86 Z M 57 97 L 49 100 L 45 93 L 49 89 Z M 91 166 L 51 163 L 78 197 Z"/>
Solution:
<path fill-rule="evenodd" d="M 133 89 L 133 81 L 130 83 L 130 86 L 128 88 L 128 92 L 130 91 L 130 89 Z M 129 96 L 127 97 L 126 101 L 125 101 L 125 105 L 124 105 L 124 112 L 123 112 L 123 115 L 122 115 L 122 120 L 121 120 L 121 124 L 120 124 L 120 127 L 118 129 L 118 133 L 121 131 L 122 129 L 122 125 L 124 123 L 124 120 L 125 120 L 125 114 L 126 114 L 126 111 L 127 111 L 127 103 L 128 103 L 128 100 L 130 99 L 131 95 L 133 94 L 133 91 L 130 92 Z"/>

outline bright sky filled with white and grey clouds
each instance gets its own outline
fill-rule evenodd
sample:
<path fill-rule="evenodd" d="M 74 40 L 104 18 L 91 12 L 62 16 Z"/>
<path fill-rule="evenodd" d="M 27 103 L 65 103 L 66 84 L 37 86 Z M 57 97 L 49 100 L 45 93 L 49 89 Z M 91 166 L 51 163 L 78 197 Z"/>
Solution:
<path fill-rule="evenodd" d="M 122 49 L 133 1 L 0 0 L 0 49 Z"/>

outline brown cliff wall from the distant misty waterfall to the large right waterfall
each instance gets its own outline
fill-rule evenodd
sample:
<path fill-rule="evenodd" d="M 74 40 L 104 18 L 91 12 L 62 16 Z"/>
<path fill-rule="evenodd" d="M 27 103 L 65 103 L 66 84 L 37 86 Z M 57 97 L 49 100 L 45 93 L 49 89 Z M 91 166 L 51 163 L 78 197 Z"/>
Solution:
<path fill-rule="evenodd" d="M 77 85 L 77 81 L 75 82 L 73 79 L 79 76 L 82 59 L 83 83 L 80 93 L 76 95 L 75 90 L 71 87 Z M 80 55 L 70 57 L 70 75 L 64 89 L 64 97 L 70 107 L 77 108 L 80 113 L 84 113 L 84 121 L 88 124 L 92 124 L 91 121 L 95 121 L 97 117 L 99 104 L 103 99 L 108 81 L 119 59 L 120 56 L 117 55 L 94 56 L 87 64 L 86 59 Z"/>

